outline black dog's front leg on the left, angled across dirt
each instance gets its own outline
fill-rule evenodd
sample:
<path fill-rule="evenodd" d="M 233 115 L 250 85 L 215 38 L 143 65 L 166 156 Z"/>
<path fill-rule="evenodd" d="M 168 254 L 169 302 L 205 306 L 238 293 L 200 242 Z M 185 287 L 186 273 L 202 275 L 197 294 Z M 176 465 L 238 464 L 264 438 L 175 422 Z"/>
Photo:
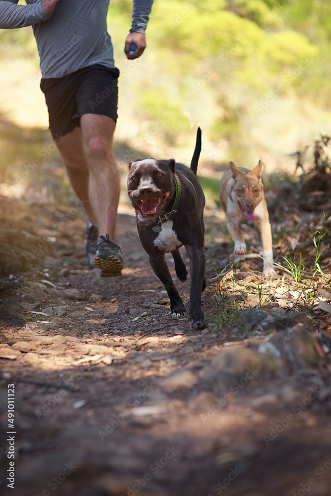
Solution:
<path fill-rule="evenodd" d="M 168 297 L 170 298 L 170 315 L 172 318 L 180 317 L 186 313 L 184 303 L 174 285 L 167 262 L 164 259 L 164 253 L 156 252 L 153 257 L 149 256 L 149 263 L 154 270 L 155 275 L 163 284 Z"/>

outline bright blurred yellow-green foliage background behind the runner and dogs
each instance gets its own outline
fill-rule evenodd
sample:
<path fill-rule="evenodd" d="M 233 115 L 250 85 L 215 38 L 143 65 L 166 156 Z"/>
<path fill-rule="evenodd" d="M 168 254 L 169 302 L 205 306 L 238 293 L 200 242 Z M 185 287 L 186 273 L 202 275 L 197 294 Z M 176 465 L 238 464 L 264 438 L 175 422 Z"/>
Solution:
<path fill-rule="evenodd" d="M 330 131 L 327 0 L 158 0 L 136 61 L 123 52 L 131 15 L 132 0 L 110 2 L 120 162 L 149 155 L 190 163 L 200 125 L 201 175 L 217 178 L 229 160 L 253 168 L 260 158 L 267 173 L 290 174 L 291 154 Z M 0 62 L 2 122 L 43 129 L 40 155 L 50 136 L 30 27 L 0 30 Z M 6 155 L 1 136 L 3 175 L 13 150 Z"/>

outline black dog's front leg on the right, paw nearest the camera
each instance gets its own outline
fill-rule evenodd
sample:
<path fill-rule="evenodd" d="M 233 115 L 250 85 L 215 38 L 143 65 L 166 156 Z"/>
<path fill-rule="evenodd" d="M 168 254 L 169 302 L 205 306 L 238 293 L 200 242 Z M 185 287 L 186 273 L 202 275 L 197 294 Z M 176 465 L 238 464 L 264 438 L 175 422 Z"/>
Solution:
<path fill-rule="evenodd" d="M 204 269 L 205 258 L 203 249 L 188 245 L 185 247 L 190 257 L 190 313 L 189 318 L 195 329 L 202 329 L 205 325 L 201 309 L 201 292 L 205 287 Z"/>

